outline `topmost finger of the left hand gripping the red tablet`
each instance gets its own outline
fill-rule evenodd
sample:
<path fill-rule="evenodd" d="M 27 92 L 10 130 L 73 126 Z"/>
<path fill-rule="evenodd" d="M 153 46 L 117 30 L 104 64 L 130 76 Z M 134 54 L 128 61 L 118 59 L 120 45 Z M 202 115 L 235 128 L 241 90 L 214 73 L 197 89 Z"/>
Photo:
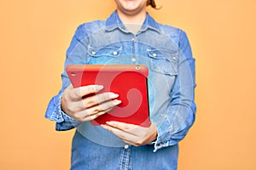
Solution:
<path fill-rule="evenodd" d="M 70 98 L 73 100 L 82 99 L 85 95 L 99 92 L 104 88 L 102 85 L 88 85 L 79 88 L 73 88 L 70 93 Z"/>

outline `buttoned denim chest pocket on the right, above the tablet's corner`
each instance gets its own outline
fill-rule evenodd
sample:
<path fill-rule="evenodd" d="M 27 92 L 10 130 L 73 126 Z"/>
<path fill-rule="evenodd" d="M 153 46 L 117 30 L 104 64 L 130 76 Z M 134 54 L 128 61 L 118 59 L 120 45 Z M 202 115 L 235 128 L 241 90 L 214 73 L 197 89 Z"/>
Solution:
<path fill-rule="evenodd" d="M 148 48 L 147 53 L 152 71 L 170 76 L 177 75 L 177 51 Z"/>

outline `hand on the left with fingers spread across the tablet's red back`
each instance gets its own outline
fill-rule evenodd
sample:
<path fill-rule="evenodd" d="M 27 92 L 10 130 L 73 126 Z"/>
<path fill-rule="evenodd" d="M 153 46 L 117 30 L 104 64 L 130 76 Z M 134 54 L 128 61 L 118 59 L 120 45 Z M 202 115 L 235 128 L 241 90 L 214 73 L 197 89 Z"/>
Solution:
<path fill-rule="evenodd" d="M 101 85 L 89 85 L 80 88 L 73 88 L 70 85 L 62 95 L 62 110 L 80 122 L 91 121 L 111 111 L 114 106 L 121 103 L 120 100 L 116 99 L 119 94 L 111 92 L 95 94 L 102 88 Z"/>

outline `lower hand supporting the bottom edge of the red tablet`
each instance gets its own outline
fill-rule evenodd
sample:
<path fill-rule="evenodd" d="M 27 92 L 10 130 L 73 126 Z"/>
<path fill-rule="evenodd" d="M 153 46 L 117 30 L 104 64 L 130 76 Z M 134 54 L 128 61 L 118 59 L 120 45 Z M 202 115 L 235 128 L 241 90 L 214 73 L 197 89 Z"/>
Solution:
<path fill-rule="evenodd" d="M 118 136 L 126 144 L 134 146 L 149 144 L 157 137 L 157 129 L 154 122 L 151 123 L 150 127 L 140 127 L 124 122 L 107 122 L 102 127 Z"/>

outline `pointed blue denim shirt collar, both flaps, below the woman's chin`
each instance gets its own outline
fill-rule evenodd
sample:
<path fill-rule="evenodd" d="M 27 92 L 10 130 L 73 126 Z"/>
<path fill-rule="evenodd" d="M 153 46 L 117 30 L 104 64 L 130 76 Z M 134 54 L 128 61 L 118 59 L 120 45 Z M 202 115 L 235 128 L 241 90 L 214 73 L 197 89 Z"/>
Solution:
<path fill-rule="evenodd" d="M 119 28 L 121 31 L 124 31 L 124 32 L 129 32 L 127 31 L 127 29 L 125 28 L 125 25 L 120 20 L 117 12 L 114 11 L 113 14 L 111 14 L 107 19 L 106 31 L 113 31 L 116 28 Z M 147 13 L 146 19 L 143 22 L 141 31 L 146 31 L 147 29 L 160 32 L 160 26 L 158 26 L 158 23 L 148 13 Z"/>

